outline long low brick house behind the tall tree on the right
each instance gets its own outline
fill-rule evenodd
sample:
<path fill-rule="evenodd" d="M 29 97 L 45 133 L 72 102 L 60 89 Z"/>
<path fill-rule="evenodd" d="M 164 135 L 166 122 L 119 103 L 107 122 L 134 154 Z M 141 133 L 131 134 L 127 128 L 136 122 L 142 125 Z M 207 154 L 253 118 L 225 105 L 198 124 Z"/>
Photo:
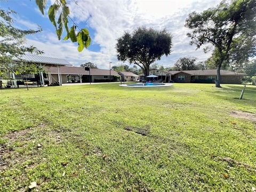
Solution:
<path fill-rule="evenodd" d="M 207 70 L 186 70 L 186 71 L 163 71 L 158 69 L 150 70 L 150 75 L 157 75 L 157 80 L 175 83 L 214 83 L 217 78 L 216 69 Z M 243 73 L 236 73 L 228 70 L 220 70 L 221 83 L 241 84 L 241 79 L 246 76 Z M 143 79 L 144 75 L 140 75 Z"/>

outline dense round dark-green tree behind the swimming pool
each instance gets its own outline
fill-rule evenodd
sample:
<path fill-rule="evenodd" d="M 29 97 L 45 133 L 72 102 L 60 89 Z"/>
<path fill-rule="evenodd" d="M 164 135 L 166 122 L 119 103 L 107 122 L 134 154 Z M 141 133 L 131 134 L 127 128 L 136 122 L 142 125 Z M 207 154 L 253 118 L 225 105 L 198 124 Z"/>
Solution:
<path fill-rule="evenodd" d="M 166 29 L 138 27 L 133 33 L 125 32 L 117 39 L 117 59 L 139 66 L 148 76 L 150 65 L 163 55 L 169 55 L 171 47 L 172 35 Z"/>

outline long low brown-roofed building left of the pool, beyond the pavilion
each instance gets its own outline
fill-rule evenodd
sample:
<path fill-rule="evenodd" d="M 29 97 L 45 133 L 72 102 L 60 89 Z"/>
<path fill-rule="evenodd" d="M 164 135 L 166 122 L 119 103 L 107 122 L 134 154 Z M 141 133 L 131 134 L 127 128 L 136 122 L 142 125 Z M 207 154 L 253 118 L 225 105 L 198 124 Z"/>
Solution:
<path fill-rule="evenodd" d="M 51 82 L 57 82 L 58 69 L 56 67 L 49 67 L 45 69 L 49 75 Z M 92 83 L 98 82 L 115 82 L 118 81 L 119 75 L 114 70 L 109 69 L 93 69 L 86 71 L 83 67 L 69 67 L 61 66 L 61 83 Z"/>

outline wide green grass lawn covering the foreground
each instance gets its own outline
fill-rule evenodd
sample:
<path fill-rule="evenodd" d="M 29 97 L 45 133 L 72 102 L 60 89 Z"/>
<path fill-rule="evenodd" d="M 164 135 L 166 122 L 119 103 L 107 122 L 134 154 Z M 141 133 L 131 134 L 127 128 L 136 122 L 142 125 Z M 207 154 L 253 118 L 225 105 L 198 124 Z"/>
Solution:
<path fill-rule="evenodd" d="M 256 87 L 0 90 L 0 191 L 252 191 Z"/>

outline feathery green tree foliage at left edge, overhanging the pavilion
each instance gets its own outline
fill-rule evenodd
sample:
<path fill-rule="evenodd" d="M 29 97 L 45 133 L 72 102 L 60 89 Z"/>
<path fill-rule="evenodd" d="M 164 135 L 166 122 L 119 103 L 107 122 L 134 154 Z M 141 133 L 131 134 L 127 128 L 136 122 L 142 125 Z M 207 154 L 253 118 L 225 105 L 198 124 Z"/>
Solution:
<path fill-rule="evenodd" d="M 34 46 L 25 46 L 26 35 L 33 35 L 40 32 L 38 30 L 21 30 L 14 27 L 12 14 L 16 14 L 12 10 L 0 9 L 0 76 L 2 78 L 9 77 L 9 73 L 33 73 L 38 69 L 36 65 L 28 64 L 23 61 L 21 56 L 26 53 L 41 54 Z M 19 62 L 13 59 L 18 59 Z"/>

